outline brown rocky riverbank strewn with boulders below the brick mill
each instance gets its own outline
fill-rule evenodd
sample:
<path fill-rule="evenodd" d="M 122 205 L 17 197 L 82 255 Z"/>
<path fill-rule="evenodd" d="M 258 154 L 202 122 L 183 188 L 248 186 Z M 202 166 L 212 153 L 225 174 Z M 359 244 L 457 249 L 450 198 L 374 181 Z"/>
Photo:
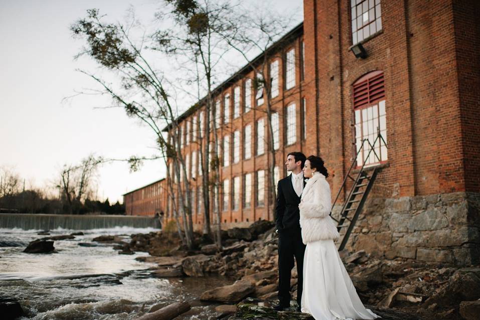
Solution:
<path fill-rule="evenodd" d="M 181 246 L 178 234 L 131 235 L 130 242 L 106 236 L 96 242 L 112 243 L 119 254 L 135 251 L 149 256 L 153 277 L 205 277 L 214 274 L 232 278 L 232 284 L 205 291 L 199 300 L 216 305 L 217 318 L 307 319 L 292 311 L 274 312 L 278 269 L 278 238 L 271 222 L 258 221 L 249 228 L 223 232 L 218 249 L 200 234 L 195 250 Z M 370 257 L 365 251 L 341 252 L 362 301 L 385 319 L 478 319 L 480 267 L 458 268 L 446 264 Z M 297 274 L 292 270 L 291 291 L 296 295 Z M 174 301 L 172 301 L 174 302 Z M 204 302 L 205 303 L 205 302 Z M 152 308 L 154 309 L 154 308 Z M 194 311 L 187 312 L 189 316 Z M 141 315 L 139 313 L 139 315 Z"/>

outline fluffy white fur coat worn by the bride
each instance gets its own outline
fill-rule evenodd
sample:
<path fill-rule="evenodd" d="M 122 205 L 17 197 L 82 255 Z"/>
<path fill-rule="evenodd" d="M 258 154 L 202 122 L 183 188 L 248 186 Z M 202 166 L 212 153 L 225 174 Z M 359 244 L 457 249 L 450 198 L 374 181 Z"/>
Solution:
<path fill-rule="evenodd" d="M 335 221 L 330 217 L 332 199 L 330 185 L 321 173 L 314 173 L 301 195 L 301 237 L 304 244 L 318 240 L 337 240 L 340 235 Z"/>

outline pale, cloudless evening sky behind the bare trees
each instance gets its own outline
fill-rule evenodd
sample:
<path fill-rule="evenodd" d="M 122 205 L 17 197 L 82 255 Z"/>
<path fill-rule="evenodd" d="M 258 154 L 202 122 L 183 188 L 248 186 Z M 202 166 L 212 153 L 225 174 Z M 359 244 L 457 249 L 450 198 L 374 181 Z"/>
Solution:
<path fill-rule="evenodd" d="M 253 0 L 248 2 L 255 3 Z M 121 109 L 95 109 L 110 104 L 99 96 L 62 99 L 75 90 L 94 87 L 75 69 L 95 70 L 88 59 L 75 61 L 83 41 L 69 27 L 97 8 L 111 20 L 123 21 L 132 5 L 144 24 L 153 19 L 152 0 L 0 0 L 0 167 L 12 168 L 42 188 L 58 180 L 63 164 L 77 164 L 90 153 L 127 158 L 155 153 L 151 130 Z M 303 14 L 302 0 L 276 0 L 277 8 Z M 292 26 L 293 26 L 292 25 Z M 239 66 L 245 62 L 239 60 Z M 99 170 L 98 199 L 123 201 L 122 194 L 165 177 L 163 160 L 145 162 L 129 173 L 125 163 Z"/>

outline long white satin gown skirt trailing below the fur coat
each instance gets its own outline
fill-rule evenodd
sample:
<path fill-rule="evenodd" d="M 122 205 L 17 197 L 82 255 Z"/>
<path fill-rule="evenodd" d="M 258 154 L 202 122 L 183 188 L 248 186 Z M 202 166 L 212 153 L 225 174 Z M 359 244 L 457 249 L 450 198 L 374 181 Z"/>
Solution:
<path fill-rule="evenodd" d="M 301 311 L 315 320 L 376 319 L 360 301 L 333 240 L 306 245 Z"/>

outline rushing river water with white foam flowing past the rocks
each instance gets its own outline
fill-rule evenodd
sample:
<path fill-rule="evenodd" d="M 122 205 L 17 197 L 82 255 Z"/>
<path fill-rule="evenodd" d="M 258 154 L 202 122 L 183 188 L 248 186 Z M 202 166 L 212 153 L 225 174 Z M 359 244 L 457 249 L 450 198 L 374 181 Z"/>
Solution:
<path fill-rule="evenodd" d="M 109 244 L 79 246 L 99 235 L 148 233 L 151 228 L 83 230 L 83 236 L 55 241 L 57 252 L 32 254 L 27 244 L 45 236 L 39 230 L 0 229 L 0 296 L 17 299 L 27 316 L 22 319 L 134 319 L 152 305 L 186 299 L 192 311 L 180 318 L 208 318 L 214 306 L 198 301 L 200 294 L 228 283 L 223 277 L 152 278 L 154 264 L 138 262 L 137 252 L 121 255 Z M 56 229 L 51 235 L 78 230 Z"/>

